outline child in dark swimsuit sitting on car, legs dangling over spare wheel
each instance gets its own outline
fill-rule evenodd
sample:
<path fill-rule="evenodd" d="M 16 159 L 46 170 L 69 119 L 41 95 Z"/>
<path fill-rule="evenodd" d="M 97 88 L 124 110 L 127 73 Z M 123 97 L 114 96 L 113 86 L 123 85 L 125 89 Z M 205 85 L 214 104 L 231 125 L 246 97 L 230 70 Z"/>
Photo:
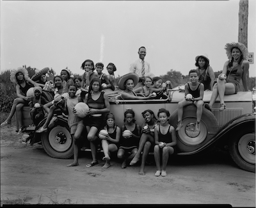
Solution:
<path fill-rule="evenodd" d="M 182 115 L 184 106 L 194 104 L 196 106 L 196 127 L 195 131 L 200 131 L 200 120 L 203 113 L 203 97 L 204 84 L 198 82 L 198 70 L 192 69 L 189 71 L 189 82 L 185 84 L 185 97 L 178 104 L 178 124 L 176 131 L 179 131 L 182 125 Z M 191 94 L 191 98 L 187 95 Z"/>

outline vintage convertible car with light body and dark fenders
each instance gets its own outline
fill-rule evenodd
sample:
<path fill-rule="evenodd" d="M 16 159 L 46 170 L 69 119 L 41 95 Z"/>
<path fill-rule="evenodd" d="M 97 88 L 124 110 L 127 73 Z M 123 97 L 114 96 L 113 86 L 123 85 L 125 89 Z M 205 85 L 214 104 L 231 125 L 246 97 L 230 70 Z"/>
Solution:
<path fill-rule="evenodd" d="M 184 98 L 184 90 L 168 90 L 167 99 L 157 100 L 121 100 L 120 90 L 106 90 L 109 95 L 110 111 L 116 117 L 116 124 L 124 124 L 124 112 L 133 109 L 137 124 L 143 123 L 141 112 L 151 109 L 157 115 L 160 108 L 170 111 L 169 123 L 177 125 L 177 105 Z M 209 102 L 212 92 L 204 92 L 204 102 Z M 183 127 L 177 132 L 177 156 L 192 156 L 208 152 L 215 145 L 228 147 L 234 162 L 243 170 L 255 172 L 255 113 L 253 110 L 252 92 L 238 92 L 236 95 L 225 95 L 226 109 L 219 111 L 220 102 L 216 100 L 212 112 L 203 110 L 200 132 L 195 132 L 196 108 L 193 104 L 184 108 Z M 28 111 L 28 109 L 27 109 Z M 28 112 L 24 108 L 24 123 L 31 124 Z M 27 127 L 23 135 L 29 143 L 42 142 L 45 152 L 51 157 L 69 158 L 73 155 L 73 142 L 67 125 L 67 116 L 59 113 L 54 126 L 47 132 L 35 133 L 37 127 Z M 86 135 L 86 132 L 84 132 Z M 86 137 L 86 136 L 85 136 Z"/>

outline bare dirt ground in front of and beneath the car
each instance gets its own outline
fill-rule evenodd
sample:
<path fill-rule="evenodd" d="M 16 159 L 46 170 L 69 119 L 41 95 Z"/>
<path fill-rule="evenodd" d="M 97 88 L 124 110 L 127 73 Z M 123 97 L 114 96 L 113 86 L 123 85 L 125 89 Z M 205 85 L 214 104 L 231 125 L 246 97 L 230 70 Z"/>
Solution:
<path fill-rule="evenodd" d="M 227 152 L 211 157 L 173 157 L 166 177 L 155 177 L 155 164 L 138 175 L 140 164 L 120 168 L 113 157 L 92 168 L 90 152 L 72 159 L 47 156 L 41 145 L 25 146 L 20 136 L 1 131 L 1 205 L 3 204 L 230 204 L 255 207 L 255 173 L 237 168 Z M 6 132 L 6 131 L 5 131 Z M 154 161 L 150 156 L 149 161 Z"/>

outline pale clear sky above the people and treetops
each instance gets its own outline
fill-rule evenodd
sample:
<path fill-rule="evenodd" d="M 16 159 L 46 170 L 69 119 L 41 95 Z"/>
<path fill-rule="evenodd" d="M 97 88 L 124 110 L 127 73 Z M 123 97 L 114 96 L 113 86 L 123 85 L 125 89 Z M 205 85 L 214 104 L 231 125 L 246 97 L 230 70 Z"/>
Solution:
<path fill-rule="evenodd" d="M 129 72 L 145 46 L 156 76 L 171 69 L 188 75 L 207 54 L 223 69 L 225 44 L 237 42 L 239 0 L 231 1 L 1 1 L 1 72 L 22 67 L 68 67 L 83 74 L 90 59 Z M 249 0 L 248 51 L 255 58 L 255 1 Z M 255 77 L 250 64 L 250 77 Z"/>

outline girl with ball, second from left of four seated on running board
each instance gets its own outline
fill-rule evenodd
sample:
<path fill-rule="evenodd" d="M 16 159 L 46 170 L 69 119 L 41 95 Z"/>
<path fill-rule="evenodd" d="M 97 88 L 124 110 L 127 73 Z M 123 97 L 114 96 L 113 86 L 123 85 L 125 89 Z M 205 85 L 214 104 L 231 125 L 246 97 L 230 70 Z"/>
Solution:
<path fill-rule="evenodd" d="M 124 137 L 123 135 L 121 137 L 117 157 L 123 159 L 122 168 L 127 167 L 127 163 L 129 164 L 131 162 L 132 158 L 138 151 L 141 127 L 136 124 L 134 116 L 135 114 L 132 109 L 127 109 L 124 112 L 125 124 L 121 128 L 121 132 L 124 133 L 125 130 L 129 130 L 132 134 L 128 137 Z M 129 154 L 129 152 L 131 152 L 131 154 Z"/>

